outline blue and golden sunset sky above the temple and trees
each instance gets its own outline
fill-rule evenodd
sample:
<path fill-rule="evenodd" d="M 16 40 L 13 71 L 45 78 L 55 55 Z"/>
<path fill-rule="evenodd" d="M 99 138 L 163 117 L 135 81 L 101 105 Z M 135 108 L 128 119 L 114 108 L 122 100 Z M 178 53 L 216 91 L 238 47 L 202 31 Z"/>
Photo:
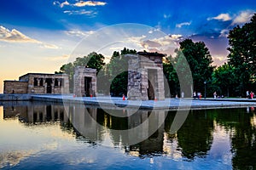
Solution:
<path fill-rule="evenodd" d="M 214 65 L 222 65 L 227 59 L 229 30 L 249 22 L 254 13 L 255 0 L 2 0 L 0 93 L 3 93 L 3 80 L 17 80 L 28 72 L 59 71 L 84 37 L 108 26 L 112 37 L 115 37 L 115 32 L 121 34 L 127 27 L 131 28 L 127 35 L 130 40 L 136 39 L 137 50 L 166 46 L 167 37 L 174 42 L 188 37 L 203 41 L 212 54 Z M 124 23 L 138 24 L 137 27 L 142 26 L 143 29 L 132 32 L 139 30 L 132 29 L 136 25 L 122 25 Z M 152 31 L 162 32 L 162 37 L 150 39 L 148 35 Z M 100 41 L 101 45 L 108 44 L 106 38 L 105 41 L 90 39 L 88 46 L 85 44 L 87 54 L 101 48 L 93 48 Z M 114 38 L 109 42 L 115 42 Z M 111 45 L 112 51 L 114 48 L 123 47 Z M 102 53 L 109 56 L 109 51 L 102 50 Z"/>

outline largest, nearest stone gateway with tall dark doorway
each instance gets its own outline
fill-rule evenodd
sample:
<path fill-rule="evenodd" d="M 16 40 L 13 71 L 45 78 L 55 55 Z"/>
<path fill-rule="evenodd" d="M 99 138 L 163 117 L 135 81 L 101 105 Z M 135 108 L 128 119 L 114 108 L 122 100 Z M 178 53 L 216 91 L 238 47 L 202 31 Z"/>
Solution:
<path fill-rule="evenodd" d="M 165 54 L 138 52 L 125 56 L 129 57 L 127 98 L 129 100 L 165 99 L 162 63 Z"/>

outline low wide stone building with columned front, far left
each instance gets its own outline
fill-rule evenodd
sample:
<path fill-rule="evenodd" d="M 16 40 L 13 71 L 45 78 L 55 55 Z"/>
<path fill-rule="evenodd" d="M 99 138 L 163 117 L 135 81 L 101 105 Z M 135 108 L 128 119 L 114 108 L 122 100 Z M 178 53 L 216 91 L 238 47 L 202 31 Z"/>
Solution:
<path fill-rule="evenodd" d="M 3 94 L 68 94 L 66 74 L 27 73 L 19 81 L 3 82 Z"/>

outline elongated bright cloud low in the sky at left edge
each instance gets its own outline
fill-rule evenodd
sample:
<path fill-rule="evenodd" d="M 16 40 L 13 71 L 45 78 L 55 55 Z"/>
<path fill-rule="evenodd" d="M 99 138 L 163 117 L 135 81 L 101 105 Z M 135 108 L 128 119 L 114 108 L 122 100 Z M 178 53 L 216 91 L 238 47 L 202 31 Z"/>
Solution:
<path fill-rule="evenodd" d="M 31 37 L 27 37 L 20 31 L 17 31 L 15 29 L 13 29 L 12 31 L 9 31 L 9 29 L 5 28 L 4 26 L 0 26 L 0 41 L 3 41 L 3 42 L 31 42 L 31 43 L 41 44 L 42 45 L 41 47 L 44 47 L 44 48 L 51 48 L 51 49 L 58 48 L 54 44 L 40 42 L 36 39 L 32 39 Z"/>

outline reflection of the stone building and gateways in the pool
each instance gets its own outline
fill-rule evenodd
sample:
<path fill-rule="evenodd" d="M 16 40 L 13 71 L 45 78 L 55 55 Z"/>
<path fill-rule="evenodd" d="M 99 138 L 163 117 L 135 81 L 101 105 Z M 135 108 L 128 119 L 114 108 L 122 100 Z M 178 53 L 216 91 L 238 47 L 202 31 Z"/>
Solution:
<path fill-rule="evenodd" d="M 6 104 L 3 105 L 3 118 L 18 116 L 20 122 L 26 126 L 61 122 L 62 127 L 72 126 L 78 136 L 81 135 L 90 142 L 123 146 L 128 153 L 131 150 L 131 154 L 138 150 L 138 146 L 140 155 L 163 151 L 164 123 L 162 122 L 165 122 L 166 111 L 137 111 L 134 114 L 126 110 L 114 111 L 117 115 L 123 115 L 117 117 L 109 115 L 102 109 L 84 108 L 81 105 L 64 107 L 47 103 L 27 104 L 27 102 Z M 143 142 L 137 145 L 137 141 Z"/>

